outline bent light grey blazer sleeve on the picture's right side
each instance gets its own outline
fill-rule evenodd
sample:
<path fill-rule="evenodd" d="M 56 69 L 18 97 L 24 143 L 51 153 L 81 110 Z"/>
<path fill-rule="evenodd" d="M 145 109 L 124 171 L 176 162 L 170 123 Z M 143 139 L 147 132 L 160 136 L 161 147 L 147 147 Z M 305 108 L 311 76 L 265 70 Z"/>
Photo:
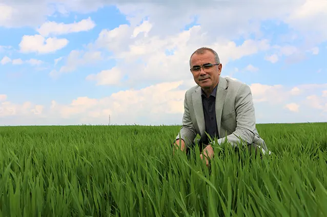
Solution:
<path fill-rule="evenodd" d="M 237 147 L 242 140 L 243 145 L 253 143 L 255 138 L 255 110 L 252 101 L 251 89 L 248 85 L 242 85 L 235 99 L 236 129 L 223 138 L 217 140 L 220 145 L 226 139 L 233 147 Z"/>

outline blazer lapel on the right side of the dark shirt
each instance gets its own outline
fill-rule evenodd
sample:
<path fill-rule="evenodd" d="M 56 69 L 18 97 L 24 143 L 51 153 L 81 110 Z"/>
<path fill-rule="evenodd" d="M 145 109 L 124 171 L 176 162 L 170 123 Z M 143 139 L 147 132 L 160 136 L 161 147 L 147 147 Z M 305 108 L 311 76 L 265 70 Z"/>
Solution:
<path fill-rule="evenodd" d="M 217 129 L 218 129 L 218 134 L 220 137 L 220 126 L 221 126 L 221 115 L 222 115 L 222 109 L 223 109 L 223 104 L 226 98 L 227 94 L 227 88 L 228 84 L 226 79 L 219 77 L 219 83 L 217 86 L 217 92 L 216 92 L 216 120 L 217 120 Z M 204 118 L 203 118 L 204 120 Z"/>

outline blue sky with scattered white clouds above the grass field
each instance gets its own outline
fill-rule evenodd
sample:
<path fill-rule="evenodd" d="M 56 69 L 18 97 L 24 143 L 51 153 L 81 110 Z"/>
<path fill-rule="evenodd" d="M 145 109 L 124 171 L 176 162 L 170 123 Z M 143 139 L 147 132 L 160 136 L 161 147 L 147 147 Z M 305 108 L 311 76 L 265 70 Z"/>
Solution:
<path fill-rule="evenodd" d="M 109 114 L 115 124 L 180 124 L 201 46 L 219 54 L 222 77 L 251 87 L 258 123 L 327 120 L 323 1 L 180 10 L 97 0 L 46 13 L 51 5 L 34 0 L 39 8 L 18 18 L 14 2 L 0 4 L 0 125 L 108 124 Z"/>

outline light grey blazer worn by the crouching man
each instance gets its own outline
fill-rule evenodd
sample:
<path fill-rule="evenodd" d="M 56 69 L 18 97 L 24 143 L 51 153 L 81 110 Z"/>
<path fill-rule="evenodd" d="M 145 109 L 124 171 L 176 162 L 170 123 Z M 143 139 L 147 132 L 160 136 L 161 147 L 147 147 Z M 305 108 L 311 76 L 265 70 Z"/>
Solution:
<path fill-rule="evenodd" d="M 255 127 L 255 111 L 252 93 L 248 85 L 230 78 L 219 78 L 216 92 L 216 119 L 220 145 L 226 138 L 237 147 L 241 138 L 247 144 L 257 144 L 267 151 L 267 146 Z M 184 114 L 182 127 L 176 139 L 183 139 L 187 146 L 195 142 L 197 134 L 201 136 L 199 142 L 204 141 L 205 116 L 203 115 L 201 87 L 190 88 L 185 93 Z M 227 136 L 227 137 L 226 137 Z M 239 138 L 238 138 L 239 137 Z"/>

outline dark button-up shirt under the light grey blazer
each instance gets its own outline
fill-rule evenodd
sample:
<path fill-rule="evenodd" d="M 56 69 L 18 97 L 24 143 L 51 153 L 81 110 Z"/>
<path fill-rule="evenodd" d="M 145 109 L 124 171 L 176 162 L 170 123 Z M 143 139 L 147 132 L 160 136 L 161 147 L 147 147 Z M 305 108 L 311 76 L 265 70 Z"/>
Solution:
<path fill-rule="evenodd" d="M 203 114 L 205 115 L 206 132 L 211 136 L 212 139 L 216 136 L 219 138 L 218 127 L 216 121 L 216 91 L 217 86 L 213 89 L 209 98 L 206 93 L 201 89 Z M 203 143 L 208 144 L 210 142 L 208 136 L 206 136 Z"/>

